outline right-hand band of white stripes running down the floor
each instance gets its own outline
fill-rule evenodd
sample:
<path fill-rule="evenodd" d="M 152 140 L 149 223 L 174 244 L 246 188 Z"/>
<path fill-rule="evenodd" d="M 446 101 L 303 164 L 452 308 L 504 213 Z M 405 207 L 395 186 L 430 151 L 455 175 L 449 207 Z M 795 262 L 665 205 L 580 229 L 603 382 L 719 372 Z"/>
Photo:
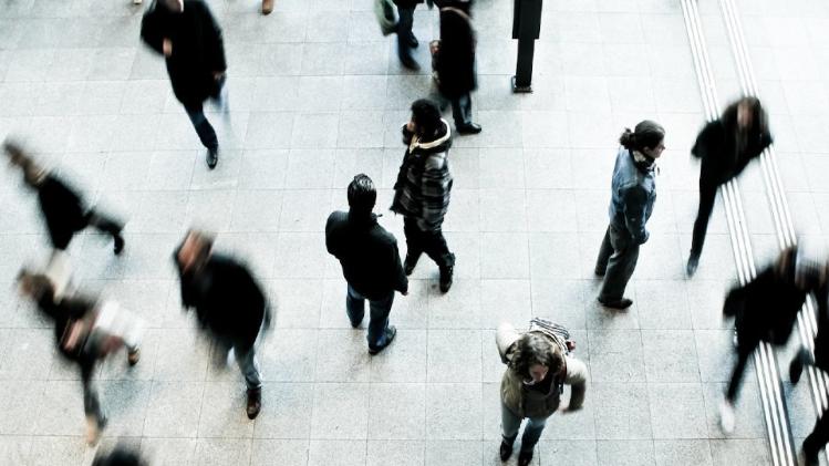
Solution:
<path fill-rule="evenodd" d="M 721 0 L 726 25 L 728 27 L 728 39 L 732 45 L 732 53 L 737 61 L 737 71 L 739 74 L 740 85 L 746 95 L 758 95 L 759 90 L 754 76 L 754 68 L 748 54 L 748 45 L 745 42 L 742 22 L 736 4 L 733 0 Z M 766 193 L 769 197 L 773 218 L 775 220 L 777 239 L 780 249 L 797 245 L 795 226 L 791 220 L 790 209 L 786 200 L 783 179 L 777 166 L 777 157 L 774 148 L 769 146 L 760 156 L 760 166 L 763 168 L 763 179 L 766 185 Z M 798 314 L 798 335 L 801 345 L 809 351 L 814 350 L 814 338 L 817 334 L 817 321 L 815 318 L 815 302 L 807 298 L 801 312 Z M 809 366 L 809 387 L 811 389 L 811 398 L 818 416 L 829 407 L 829 386 L 827 374 Z M 825 453 L 829 458 L 829 452 Z"/>

